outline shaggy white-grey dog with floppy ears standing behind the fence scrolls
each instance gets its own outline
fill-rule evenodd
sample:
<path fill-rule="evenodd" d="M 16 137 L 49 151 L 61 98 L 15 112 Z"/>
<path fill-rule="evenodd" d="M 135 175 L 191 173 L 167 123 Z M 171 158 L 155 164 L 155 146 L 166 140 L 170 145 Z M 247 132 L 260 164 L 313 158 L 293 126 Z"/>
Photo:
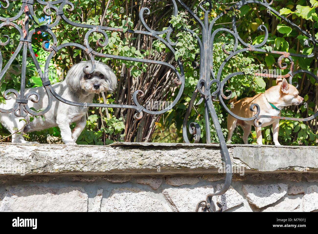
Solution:
<path fill-rule="evenodd" d="M 83 68 L 85 67 L 87 71 L 91 70 L 91 62 L 82 61 L 73 65 L 63 82 L 52 84 L 53 90 L 64 99 L 79 103 L 92 103 L 96 93 L 114 91 L 117 78 L 106 64 L 96 61 L 95 70 L 89 75 L 84 73 Z M 40 100 L 38 103 L 33 103 L 31 96 L 28 101 L 28 106 L 36 110 L 44 110 L 48 106 L 48 97 L 45 88 L 43 86 L 31 88 L 25 90 L 25 93 L 31 91 L 37 92 L 40 95 Z M 16 104 L 14 94 L 11 93 L 8 97 L 11 97 L 11 99 L 7 100 L 6 104 L 0 104 L 0 108 L 9 110 Z M 17 129 L 20 130 L 24 125 L 23 130 L 20 132 L 41 131 L 59 126 L 64 144 L 76 144 L 77 138 L 86 126 L 87 107 L 72 106 L 60 102 L 53 96 L 52 98 L 52 107 L 44 114 L 44 121 L 38 117 L 25 125 L 24 121 L 19 121 L 23 119 L 23 117 L 16 117 L 13 112 L 0 112 L 1 124 L 13 134 L 12 142 L 30 143 L 24 140 L 22 134 L 15 133 Z M 25 117 L 25 119 L 28 121 L 30 116 Z M 74 122 L 76 123 L 76 127 L 71 131 L 70 124 Z"/>

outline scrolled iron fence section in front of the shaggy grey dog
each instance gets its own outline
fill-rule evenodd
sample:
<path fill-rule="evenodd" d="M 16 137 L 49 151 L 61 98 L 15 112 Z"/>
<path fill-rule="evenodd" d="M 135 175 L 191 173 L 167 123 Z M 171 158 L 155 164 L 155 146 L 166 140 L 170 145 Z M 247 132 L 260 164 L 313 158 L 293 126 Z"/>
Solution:
<path fill-rule="evenodd" d="M 4 2 L 5 4 L 1 4 L 1 7 L 3 9 L 6 9 L 9 6 L 9 0 L 1 0 L 2 2 Z M 15 0 L 11 0 L 11 1 L 15 1 Z M 47 24 L 45 26 L 41 26 L 38 27 L 36 29 L 33 29 L 31 31 L 29 31 L 29 20 L 28 18 L 34 15 L 34 11 L 33 11 L 33 5 L 35 3 L 39 3 L 41 5 L 44 5 L 43 7 L 43 13 L 46 16 L 51 16 L 53 12 L 55 12 L 55 21 Z M 19 44 L 17 46 L 17 50 L 12 54 L 12 56 L 10 57 L 10 59 L 8 60 L 7 64 L 5 64 L 3 70 L 0 71 L 0 81 L 2 81 L 2 78 L 4 76 L 4 74 L 7 72 L 7 70 L 9 69 L 12 61 L 14 60 L 14 58 L 17 56 L 17 54 L 19 53 L 19 51 L 22 49 L 23 50 L 23 54 L 22 54 L 22 72 L 21 72 L 21 88 L 20 88 L 20 93 L 17 90 L 14 89 L 9 89 L 6 90 L 4 92 L 4 98 L 6 100 L 10 99 L 10 97 L 8 97 L 7 95 L 9 93 L 13 93 L 16 96 L 16 105 L 11 108 L 10 110 L 4 110 L 0 108 L 0 112 L 4 112 L 4 113 L 10 113 L 10 112 L 14 112 L 14 114 L 17 117 L 25 117 L 28 113 L 34 116 L 39 116 L 39 115 L 43 115 L 45 114 L 48 110 L 50 110 L 51 106 L 52 106 L 52 97 L 57 98 L 59 101 L 66 103 L 66 104 L 70 104 L 73 106 L 87 106 L 87 107 L 105 107 L 105 108 L 130 108 L 130 109 L 134 109 L 136 110 L 136 113 L 134 115 L 135 119 L 141 119 L 142 118 L 142 113 L 148 113 L 148 114 L 162 114 L 170 109 L 172 109 L 176 103 L 179 101 L 182 93 L 183 93 L 183 89 L 184 89 L 184 71 L 183 71 L 183 65 L 180 61 L 180 59 L 177 60 L 177 64 L 178 64 L 178 68 L 180 70 L 180 72 L 177 70 L 176 67 L 172 66 L 169 63 L 166 62 L 162 62 L 162 61 L 156 61 L 156 60 L 148 60 L 148 59 L 142 59 L 142 58 L 133 58 L 133 57 L 125 57 L 125 56 L 115 56 L 115 55 L 111 55 L 111 54 L 104 54 L 104 53 L 99 53 L 95 50 L 93 50 L 89 43 L 88 43 L 88 37 L 90 36 L 91 33 L 93 32 L 97 32 L 100 33 L 103 38 L 100 38 L 97 40 L 96 45 L 98 47 L 104 47 L 107 45 L 108 43 L 108 36 L 106 31 L 117 31 L 117 32 L 121 32 L 123 33 L 123 30 L 121 28 L 115 28 L 115 27 L 107 27 L 107 26 L 100 26 L 100 25 L 90 25 L 90 24 L 84 24 L 84 23 L 76 23 L 73 22 L 71 20 L 69 20 L 66 15 L 64 14 L 64 6 L 66 6 L 66 11 L 68 12 L 72 12 L 74 10 L 74 5 L 73 3 L 71 3 L 70 1 L 67 0 L 57 0 L 57 1 L 49 1 L 49 2 L 45 2 L 45 1 L 41 1 L 41 0 L 22 0 L 22 5 L 21 5 L 21 9 L 18 12 L 18 14 L 14 17 L 10 17 L 10 18 L 3 18 L 0 17 L 0 28 L 2 27 L 14 27 L 15 29 L 17 29 L 20 33 L 20 40 L 19 40 Z M 26 8 L 27 7 L 27 8 Z M 27 9 L 27 11 L 25 11 L 25 9 Z M 176 16 L 177 15 L 177 6 L 175 1 L 173 1 L 173 15 Z M 155 30 L 151 30 L 149 28 L 149 26 L 146 24 L 145 20 L 144 20 L 144 16 L 148 15 L 150 13 L 150 10 L 147 7 L 144 7 L 140 10 L 139 12 L 139 17 L 140 17 L 140 21 L 142 23 L 142 25 L 146 28 L 146 30 L 148 31 L 144 31 L 144 30 L 130 30 L 128 29 L 127 32 L 128 33 L 133 33 L 133 34 L 142 34 L 142 35 L 146 35 L 149 37 L 153 37 L 157 40 L 160 40 L 160 42 L 162 42 L 167 48 L 169 48 L 169 50 L 175 54 L 175 50 L 173 49 L 172 46 L 174 46 L 176 43 L 171 42 L 170 40 L 170 35 L 171 32 L 174 30 L 172 28 L 172 26 L 170 25 L 167 29 L 163 30 L 163 31 L 155 31 Z M 19 27 L 19 25 L 17 25 L 16 23 L 14 23 L 13 21 L 16 21 L 19 17 L 23 16 L 23 14 L 25 14 L 25 16 L 27 16 L 26 21 L 25 21 L 25 34 L 23 32 L 23 30 Z M 57 38 L 54 34 L 54 32 L 52 31 L 52 28 L 54 28 L 55 26 L 57 26 L 60 22 L 60 20 L 65 21 L 67 24 L 78 27 L 78 28 L 87 28 L 89 29 L 84 37 L 84 43 L 83 45 L 79 44 L 79 43 L 73 43 L 73 42 L 68 42 L 68 43 L 63 43 L 58 45 L 58 41 Z M 50 54 L 46 59 L 45 62 L 45 66 L 44 66 L 44 72 L 42 72 L 40 65 L 38 63 L 38 60 L 35 56 L 34 51 L 32 50 L 32 35 L 34 32 L 36 31 L 42 31 L 42 32 L 46 32 L 48 33 L 51 37 L 52 37 L 52 44 L 50 44 L 49 48 L 45 48 L 45 43 L 48 43 L 48 41 L 44 41 L 42 43 L 42 48 L 46 51 L 49 51 Z M 160 34 L 163 33 L 167 33 L 167 37 L 166 39 L 163 39 L 162 37 L 159 37 Z M 25 35 L 25 36 L 24 36 Z M 0 45 L 7 45 L 10 42 L 10 38 L 8 35 L 4 35 L 3 37 L 5 37 L 7 40 L 5 42 L 1 42 Z M 85 74 L 91 74 L 93 72 L 93 70 L 95 69 L 95 60 L 94 60 L 94 56 L 97 57 L 105 57 L 105 58 L 111 58 L 111 59 L 121 59 L 121 60 L 128 60 L 128 61 L 137 61 L 137 62 L 141 62 L 141 63 L 148 63 L 148 64 L 159 64 L 159 65 L 163 65 L 168 67 L 170 70 L 172 70 L 175 75 L 176 78 L 172 81 L 173 84 L 175 84 L 176 86 L 179 86 L 179 91 L 175 97 L 175 99 L 173 100 L 173 102 L 167 106 L 166 108 L 162 109 L 162 110 L 158 110 L 158 111 L 152 111 L 152 110 L 148 110 L 146 108 L 144 108 L 141 104 L 139 104 L 138 102 L 138 98 L 143 96 L 143 91 L 142 90 L 135 90 L 135 92 L 133 93 L 133 101 L 135 105 L 121 105 L 121 104 L 96 104 L 96 103 L 77 103 L 77 102 L 72 102 L 69 100 L 66 100 L 62 97 L 60 97 L 55 90 L 52 88 L 51 83 L 49 81 L 48 78 L 48 73 L 49 73 L 49 64 L 50 61 L 52 59 L 52 57 L 62 48 L 67 47 L 67 46 L 72 46 L 72 47 L 77 47 L 78 49 L 83 50 L 86 55 L 89 57 L 90 61 L 92 62 L 92 68 L 91 70 L 87 70 L 87 67 L 83 69 Z M 33 110 L 31 110 L 28 107 L 28 98 L 31 98 L 32 102 L 38 102 L 40 99 L 38 93 L 36 92 L 29 92 L 27 94 L 25 94 L 25 70 L 26 70 L 26 57 L 27 57 L 27 50 L 29 50 L 32 60 L 34 61 L 34 64 L 37 68 L 37 70 L 39 71 L 39 76 L 41 78 L 42 84 L 45 87 L 47 96 L 48 96 L 48 106 L 44 109 L 41 110 L 39 112 L 35 112 Z M 0 53 L 0 65 L 2 68 L 2 55 Z M 35 97 L 34 97 L 35 96 Z"/>

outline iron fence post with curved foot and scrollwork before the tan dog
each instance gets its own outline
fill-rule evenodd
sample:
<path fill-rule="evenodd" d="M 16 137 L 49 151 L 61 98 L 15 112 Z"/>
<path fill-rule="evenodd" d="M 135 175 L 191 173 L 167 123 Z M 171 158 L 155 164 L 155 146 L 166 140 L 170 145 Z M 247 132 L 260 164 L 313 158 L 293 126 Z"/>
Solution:
<path fill-rule="evenodd" d="M 196 208 L 196 211 L 199 211 L 200 209 L 201 209 L 201 211 L 215 211 L 214 204 L 212 204 L 212 197 L 216 196 L 216 195 L 224 194 L 228 190 L 228 188 L 230 187 L 231 180 L 232 180 L 232 164 L 231 164 L 231 160 L 230 160 L 229 152 L 228 152 L 228 149 L 226 146 L 226 142 L 225 142 L 220 124 L 218 122 L 218 117 L 217 117 L 217 114 L 216 114 L 216 111 L 214 109 L 212 101 L 219 101 L 219 103 L 226 110 L 226 112 L 228 112 L 228 114 L 230 114 L 231 116 L 233 116 L 237 119 L 245 120 L 245 121 L 254 120 L 254 126 L 256 126 L 256 127 L 261 127 L 262 123 L 259 121 L 261 118 L 275 118 L 275 119 L 308 121 L 308 120 L 312 120 L 318 116 L 318 111 L 314 115 L 312 115 L 311 117 L 307 117 L 307 118 L 259 115 L 260 107 L 258 104 L 251 104 L 250 110 L 252 112 L 255 112 L 255 114 L 250 118 L 245 118 L 245 117 L 240 117 L 238 115 L 235 115 L 231 110 L 229 110 L 227 108 L 227 106 L 223 100 L 223 99 L 226 99 L 226 100 L 230 99 L 232 96 L 232 91 L 226 90 L 227 92 L 229 92 L 229 94 L 227 96 L 225 96 L 223 88 L 224 88 L 226 81 L 228 81 L 231 77 L 237 76 L 237 75 L 244 75 L 245 73 L 244 72 L 234 72 L 234 73 L 226 76 L 225 78 L 223 78 L 221 81 L 223 68 L 225 67 L 227 62 L 233 56 L 237 55 L 238 53 L 258 51 L 258 52 L 263 52 L 263 53 L 279 54 L 280 57 L 278 58 L 277 62 L 278 62 L 278 67 L 280 69 L 282 69 L 282 70 L 287 69 L 287 63 L 282 63 L 282 61 L 283 61 L 283 59 L 289 60 L 290 66 L 289 66 L 289 71 L 286 75 L 271 75 L 271 74 L 263 74 L 263 73 L 255 73 L 254 75 L 261 76 L 261 77 L 287 78 L 289 81 L 289 84 L 293 84 L 297 88 L 298 84 L 296 82 L 292 83 L 292 79 L 293 79 L 294 75 L 296 75 L 298 73 L 306 73 L 306 74 L 310 75 L 311 77 L 315 78 L 316 81 L 318 81 L 318 77 L 317 77 L 317 75 L 313 74 L 312 72 L 310 72 L 308 70 L 301 69 L 301 70 L 294 71 L 294 61 L 292 59 L 292 56 L 294 56 L 294 57 L 307 57 L 307 58 L 315 56 L 315 58 L 318 60 L 318 57 L 316 54 L 316 52 L 318 51 L 318 47 L 317 47 L 318 41 L 315 40 L 315 38 L 312 35 L 310 35 L 306 31 L 299 28 L 297 25 L 295 25 L 293 22 L 291 22 L 290 20 L 288 20 L 284 16 L 280 16 L 280 18 L 283 19 L 285 22 L 289 23 L 295 30 L 297 30 L 301 34 L 308 37 L 308 39 L 306 39 L 304 44 L 307 47 L 311 47 L 311 46 L 313 47 L 313 51 L 310 55 L 288 53 L 286 51 L 275 51 L 275 50 L 267 51 L 267 50 L 261 49 L 260 47 L 265 45 L 265 43 L 268 39 L 268 30 L 267 30 L 266 26 L 263 24 L 258 27 L 258 30 L 264 32 L 264 40 L 261 43 L 256 44 L 256 45 L 245 43 L 239 37 L 238 31 L 236 29 L 236 23 L 235 23 L 236 16 L 235 16 L 235 14 L 233 14 L 233 16 L 232 16 L 232 30 L 229 30 L 226 28 L 218 28 L 217 30 L 214 30 L 212 32 L 212 27 L 213 27 L 214 23 L 220 17 L 224 16 L 229 11 L 239 10 L 242 6 L 249 4 L 249 3 L 256 3 L 256 4 L 259 4 L 260 6 L 266 7 L 267 13 L 272 12 L 276 16 L 280 15 L 279 12 L 277 12 L 275 9 L 273 9 L 270 6 L 273 3 L 273 1 L 270 1 L 269 3 L 266 0 L 263 0 L 263 1 L 256 1 L 256 0 L 245 1 L 245 0 L 242 0 L 242 1 L 239 1 L 239 2 L 235 3 L 234 5 L 232 5 L 228 10 L 225 10 L 225 12 L 216 16 L 211 21 L 211 23 L 209 23 L 209 20 L 208 20 L 208 14 L 212 10 L 212 3 L 210 0 L 202 1 L 199 4 L 199 7 L 201 8 L 201 10 L 204 11 L 203 22 L 181 0 L 177 0 L 177 1 L 181 4 L 181 6 L 185 10 L 187 10 L 189 12 L 189 14 L 193 17 L 193 19 L 200 25 L 201 32 L 202 32 L 202 40 L 200 40 L 199 37 L 196 37 L 197 41 L 198 41 L 198 46 L 200 49 L 200 52 L 199 52 L 200 63 L 194 62 L 192 64 L 195 69 L 197 68 L 197 66 L 200 65 L 199 66 L 199 80 L 197 83 L 197 88 L 195 89 L 195 91 L 190 99 L 189 106 L 188 106 L 188 109 L 186 111 L 186 114 L 185 114 L 185 117 L 183 120 L 183 138 L 184 138 L 186 143 L 190 143 L 188 136 L 187 136 L 187 122 L 188 122 L 188 118 L 190 116 L 191 109 L 194 105 L 195 99 L 196 99 L 197 95 L 200 94 L 200 100 L 198 101 L 197 105 L 201 104 L 204 101 L 204 110 L 205 110 L 204 111 L 204 114 L 205 114 L 204 119 L 205 119 L 205 130 L 206 130 L 206 142 L 211 143 L 210 122 L 209 122 L 209 117 L 211 115 L 215 130 L 217 132 L 217 136 L 218 136 L 218 139 L 220 142 L 221 154 L 222 154 L 222 157 L 225 158 L 226 177 L 225 177 L 225 184 L 224 184 L 223 189 L 217 193 L 208 194 L 205 200 L 202 200 L 197 204 L 197 208 Z M 204 4 L 208 4 L 208 6 L 204 6 Z M 188 30 L 188 31 L 190 31 L 191 33 L 194 33 L 191 30 Z M 221 64 L 221 66 L 218 68 L 217 73 L 215 73 L 214 69 L 213 69 L 213 41 L 214 41 L 214 37 L 216 36 L 216 34 L 218 32 L 221 32 L 221 31 L 230 33 L 233 36 L 234 46 L 233 46 L 232 51 L 227 51 L 225 49 L 225 45 L 228 43 L 225 43 L 222 45 L 222 49 L 223 49 L 224 53 L 226 53 L 228 56 L 225 58 L 225 60 Z M 194 36 L 196 36 L 196 35 L 194 35 Z M 243 49 L 237 50 L 239 43 L 243 46 Z M 197 56 L 196 56 L 196 59 L 197 59 Z M 216 83 L 216 90 L 211 90 L 212 83 Z M 218 98 L 218 100 L 216 100 L 216 98 Z M 198 143 L 200 140 L 200 134 L 198 134 L 200 132 L 199 124 L 194 123 L 194 122 L 190 123 L 189 130 L 190 130 L 190 134 L 194 135 L 194 142 Z M 219 211 L 222 211 L 222 205 L 221 204 L 217 204 L 217 205 L 220 208 Z"/>

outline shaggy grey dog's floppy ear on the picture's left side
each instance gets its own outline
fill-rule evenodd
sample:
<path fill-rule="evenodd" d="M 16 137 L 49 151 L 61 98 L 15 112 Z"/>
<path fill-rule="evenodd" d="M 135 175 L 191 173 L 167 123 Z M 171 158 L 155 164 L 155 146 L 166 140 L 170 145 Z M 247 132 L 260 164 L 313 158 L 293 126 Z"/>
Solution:
<path fill-rule="evenodd" d="M 86 62 L 80 62 L 78 64 L 74 64 L 71 69 L 67 72 L 66 75 L 66 84 L 73 91 L 76 92 L 80 87 L 80 79 L 82 78 L 84 72 L 83 68 L 86 66 Z"/>

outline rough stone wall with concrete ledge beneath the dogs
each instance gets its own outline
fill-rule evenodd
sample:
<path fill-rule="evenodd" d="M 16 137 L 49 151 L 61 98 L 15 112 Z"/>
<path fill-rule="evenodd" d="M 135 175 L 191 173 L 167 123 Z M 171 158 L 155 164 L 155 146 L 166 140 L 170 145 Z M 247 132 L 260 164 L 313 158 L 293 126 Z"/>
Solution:
<path fill-rule="evenodd" d="M 229 152 L 240 171 L 217 209 L 318 210 L 318 147 Z M 222 167 L 217 144 L 0 144 L 0 211 L 195 211 L 222 189 Z"/>

